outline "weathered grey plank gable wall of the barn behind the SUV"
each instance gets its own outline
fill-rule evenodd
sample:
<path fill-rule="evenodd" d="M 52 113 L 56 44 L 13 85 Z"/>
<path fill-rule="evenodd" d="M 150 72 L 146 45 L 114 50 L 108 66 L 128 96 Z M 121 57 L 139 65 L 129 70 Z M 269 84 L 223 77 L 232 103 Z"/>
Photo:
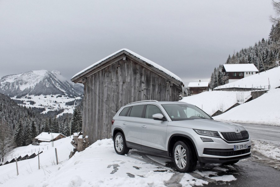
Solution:
<path fill-rule="evenodd" d="M 111 120 L 121 106 L 140 100 L 178 101 L 180 86 L 139 63 L 119 60 L 87 77 L 83 134 L 93 143 L 111 137 Z"/>

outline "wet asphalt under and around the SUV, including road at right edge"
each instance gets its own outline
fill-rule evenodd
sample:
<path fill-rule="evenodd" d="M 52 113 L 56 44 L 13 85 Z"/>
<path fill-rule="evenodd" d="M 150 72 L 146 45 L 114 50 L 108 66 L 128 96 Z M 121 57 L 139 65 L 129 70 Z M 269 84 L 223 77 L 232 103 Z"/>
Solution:
<path fill-rule="evenodd" d="M 255 124 L 242 125 L 248 130 L 251 139 L 265 141 L 267 143 L 273 143 L 277 146 L 280 146 L 280 127 Z M 182 179 L 184 174 L 173 170 L 174 165 L 171 159 L 152 156 L 139 151 L 133 152 L 135 155 L 141 156 L 142 161 L 157 165 L 159 168 L 158 172 L 171 170 L 174 173 L 171 179 L 165 182 L 166 186 L 181 186 L 178 181 Z M 214 181 L 207 177 L 198 175 L 195 172 L 191 172 L 189 174 L 197 179 L 208 181 L 208 185 L 203 185 L 206 187 L 279 187 L 280 171 L 272 167 L 273 165 L 279 163 L 277 161 L 272 161 L 262 155 L 254 154 L 257 153 L 252 153 L 252 156 L 250 158 L 243 159 L 232 166 L 226 166 L 222 164 L 218 165 L 219 168 L 225 170 L 217 170 L 217 164 L 206 164 L 204 167 L 201 167 L 198 164 L 196 167 L 196 170 L 199 171 L 215 171 L 217 172 L 218 176 L 233 175 L 236 180 L 232 180 L 229 182 Z M 139 159 L 139 157 L 135 158 Z"/>

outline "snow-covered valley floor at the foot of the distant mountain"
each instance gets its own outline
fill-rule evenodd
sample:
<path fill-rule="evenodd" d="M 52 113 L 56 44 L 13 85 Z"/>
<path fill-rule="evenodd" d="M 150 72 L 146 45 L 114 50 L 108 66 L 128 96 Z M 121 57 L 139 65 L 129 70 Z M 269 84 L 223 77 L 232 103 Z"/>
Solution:
<path fill-rule="evenodd" d="M 73 113 L 75 106 L 73 105 L 66 105 L 67 102 L 74 101 L 76 99 L 81 99 L 81 97 L 76 98 L 69 98 L 68 96 L 62 95 L 28 95 L 26 98 L 16 98 L 13 97 L 12 99 L 24 101 L 25 104 L 20 104 L 26 107 L 36 107 L 36 108 L 46 108 L 46 110 L 42 113 L 47 113 L 49 111 L 55 111 L 64 109 L 63 113 Z M 30 104 L 28 101 L 34 101 L 35 104 Z M 60 113 L 59 115 L 62 115 Z M 59 116 L 58 115 L 58 116 Z"/>

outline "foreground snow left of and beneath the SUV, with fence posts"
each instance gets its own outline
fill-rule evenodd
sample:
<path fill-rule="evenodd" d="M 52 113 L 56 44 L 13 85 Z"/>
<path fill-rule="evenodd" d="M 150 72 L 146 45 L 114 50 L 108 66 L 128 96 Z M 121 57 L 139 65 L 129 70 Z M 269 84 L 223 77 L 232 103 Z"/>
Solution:
<path fill-rule="evenodd" d="M 164 162 L 164 158 L 150 156 L 153 160 L 159 160 L 157 162 L 159 164 L 151 164 L 133 150 L 129 151 L 128 155 L 118 155 L 114 151 L 111 139 L 99 140 L 85 151 L 76 152 L 68 159 L 70 150 L 73 149 L 70 141 L 71 139 L 66 137 L 54 141 L 54 147 L 51 147 L 51 143 L 40 144 L 48 146 L 48 149 L 44 149 L 40 154 L 40 170 L 38 156 L 19 161 L 19 175 L 16 175 L 16 163 L 0 166 L 0 186 L 165 186 L 166 182 L 176 180 L 176 175 L 183 177 L 173 182 L 188 187 L 208 184 L 207 180 L 236 180 L 233 175 L 219 176 L 219 166 L 216 166 L 214 171 L 194 171 L 194 176 L 201 176 L 198 179 L 192 173 L 180 174 L 166 166 L 159 166 Z M 17 154 L 17 151 L 30 151 L 34 147 L 29 145 L 18 148 L 13 154 Z M 58 165 L 55 161 L 54 148 L 57 148 L 58 152 Z"/>

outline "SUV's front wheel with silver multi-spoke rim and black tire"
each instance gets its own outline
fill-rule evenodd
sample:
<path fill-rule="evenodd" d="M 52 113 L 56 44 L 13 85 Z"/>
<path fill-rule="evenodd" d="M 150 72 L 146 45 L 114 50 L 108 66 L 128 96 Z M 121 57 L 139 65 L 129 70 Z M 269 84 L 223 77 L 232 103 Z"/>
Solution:
<path fill-rule="evenodd" d="M 194 150 L 184 141 L 177 141 L 173 147 L 173 162 L 175 169 L 182 172 L 192 172 L 196 167 Z"/>

